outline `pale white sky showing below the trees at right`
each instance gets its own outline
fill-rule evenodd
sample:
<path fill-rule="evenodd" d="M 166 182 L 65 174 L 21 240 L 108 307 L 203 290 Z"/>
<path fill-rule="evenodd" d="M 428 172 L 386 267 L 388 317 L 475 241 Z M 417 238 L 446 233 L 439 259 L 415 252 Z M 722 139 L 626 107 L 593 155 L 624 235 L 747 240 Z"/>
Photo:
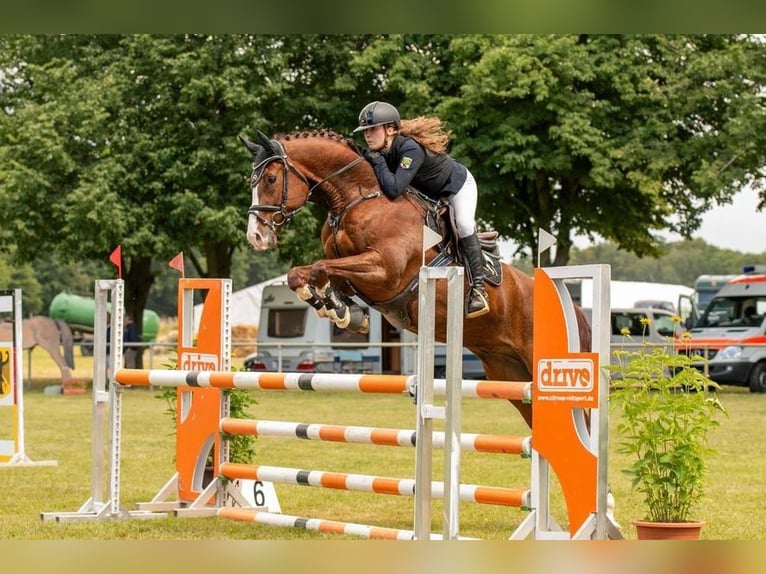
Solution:
<path fill-rule="evenodd" d="M 721 249 L 733 249 L 741 253 L 766 253 L 766 211 L 756 211 L 758 194 L 745 189 L 736 194 L 730 205 L 716 207 L 702 217 L 702 226 L 694 237 Z M 669 235 L 669 241 L 679 241 L 678 235 Z M 591 245 L 586 237 L 575 237 L 575 247 L 584 249 Z M 513 253 L 512 244 L 501 242 L 503 260 Z"/>

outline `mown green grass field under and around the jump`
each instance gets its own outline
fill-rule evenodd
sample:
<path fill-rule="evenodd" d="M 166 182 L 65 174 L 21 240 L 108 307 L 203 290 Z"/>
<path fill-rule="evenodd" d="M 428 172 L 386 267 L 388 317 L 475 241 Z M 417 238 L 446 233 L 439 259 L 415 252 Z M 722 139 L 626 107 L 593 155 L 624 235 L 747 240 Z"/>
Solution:
<path fill-rule="evenodd" d="M 90 495 L 90 392 L 80 396 L 45 395 L 55 382 L 44 358 L 33 353 L 33 374 L 25 393 L 26 452 L 37 461 L 55 459 L 55 467 L 0 468 L 4 494 L 0 497 L 0 532 L 5 540 L 310 540 L 337 538 L 296 529 L 283 529 L 216 518 L 43 522 L 42 512 L 77 510 Z M 90 379 L 87 358 L 77 358 L 75 373 Z M 54 367 L 55 370 L 55 367 Z M 123 401 L 121 502 L 126 509 L 150 500 L 174 471 L 172 422 L 158 391 L 129 389 Z M 315 393 L 254 392 L 253 416 L 261 419 L 414 428 L 415 407 L 402 397 Z M 766 446 L 758 429 L 766 417 L 766 395 L 724 388 L 721 400 L 729 418 L 712 435 L 719 450 L 709 460 L 708 498 L 699 509 L 706 522 L 703 539 L 762 540 L 766 507 Z M 2 421 L 2 419 L 0 419 Z M 5 422 L 5 421 L 2 421 Z M 616 421 L 610 421 L 614 429 Z M 464 432 L 523 434 L 525 427 L 505 401 L 466 399 Z M 391 477 L 414 477 L 414 449 L 291 441 L 264 438 L 256 443 L 259 464 L 356 472 Z M 463 453 L 461 482 L 525 488 L 529 462 L 515 456 Z M 617 500 L 617 520 L 628 539 L 635 538 L 631 520 L 642 518 L 638 496 L 620 474 L 624 461 L 610 445 L 609 482 Z M 441 459 L 435 458 L 435 479 L 441 479 Z M 282 511 L 411 529 L 413 499 L 311 487 L 277 485 Z M 561 517 L 561 501 L 554 515 Z M 461 503 L 460 531 L 464 536 L 503 540 L 526 513 L 519 509 Z M 441 508 L 434 507 L 434 531 L 441 531 Z"/>

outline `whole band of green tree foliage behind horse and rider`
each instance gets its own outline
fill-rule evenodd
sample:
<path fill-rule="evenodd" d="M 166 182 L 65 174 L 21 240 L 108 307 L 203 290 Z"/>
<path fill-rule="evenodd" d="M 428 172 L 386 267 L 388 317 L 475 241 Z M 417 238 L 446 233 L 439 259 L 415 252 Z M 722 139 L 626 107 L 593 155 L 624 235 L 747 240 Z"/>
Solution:
<path fill-rule="evenodd" d="M 121 245 L 140 316 L 179 251 L 199 276 L 260 258 L 238 135 L 350 133 L 382 99 L 448 122 L 480 223 L 522 250 L 543 228 L 556 264 L 582 234 L 656 257 L 745 185 L 763 207 L 765 55 L 735 35 L 2 36 L 0 245 L 14 265 Z M 280 265 L 320 256 L 323 217 L 301 212 Z"/>

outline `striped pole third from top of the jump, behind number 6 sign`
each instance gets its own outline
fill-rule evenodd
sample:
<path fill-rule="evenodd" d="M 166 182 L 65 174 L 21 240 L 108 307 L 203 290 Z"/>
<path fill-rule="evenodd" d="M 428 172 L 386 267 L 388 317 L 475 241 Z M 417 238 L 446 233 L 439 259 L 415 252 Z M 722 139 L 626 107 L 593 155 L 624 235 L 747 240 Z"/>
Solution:
<path fill-rule="evenodd" d="M 365 474 L 345 474 L 321 470 L 299 470 L 282 466 L 263 466 L 225 462 L 220 468 L 221 476 L 230 480 L 250 479 L 298 486 L 318 486 L 353 492 L 374 492 L 399 496 L 415 495 L 415 480 L 410 478 L 388 478 Z M 432 483 L 432 496 L 444 497 L 444 483 Z M 515 506 L 528 508 L 530 491 L 498 486 L 461 484 L 459 497 L 464 502 Z"/>

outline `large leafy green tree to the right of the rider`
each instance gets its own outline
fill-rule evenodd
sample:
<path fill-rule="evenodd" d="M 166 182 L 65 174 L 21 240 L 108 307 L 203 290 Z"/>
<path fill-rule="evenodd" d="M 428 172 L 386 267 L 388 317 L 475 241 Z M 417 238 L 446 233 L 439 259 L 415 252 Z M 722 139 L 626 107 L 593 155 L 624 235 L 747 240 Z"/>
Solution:
<path fill-rule="evenodd" d="M 467 36 L 450 52 L 460 91 L 438 110 L 482 219 L 533 248 L 551 231 L 557 265 L 575 234 L 657 255 L 659 231 L 690 237 L 743 186 L 766 198 L 757 39 Z"/>

